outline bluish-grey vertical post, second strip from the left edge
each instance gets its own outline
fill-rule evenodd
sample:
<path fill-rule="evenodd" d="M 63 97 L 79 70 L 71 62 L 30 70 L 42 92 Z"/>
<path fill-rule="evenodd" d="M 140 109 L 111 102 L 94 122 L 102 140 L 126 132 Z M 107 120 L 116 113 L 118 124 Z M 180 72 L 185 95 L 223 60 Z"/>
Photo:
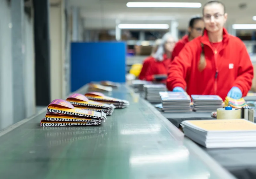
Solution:
<path fill-rule="evenodd" d="M 26 117 L 24 105 L 24 1 L 11 1 L 12 13 L 12 80 L 13 80 L 13 120 L 18 122 Z"/>

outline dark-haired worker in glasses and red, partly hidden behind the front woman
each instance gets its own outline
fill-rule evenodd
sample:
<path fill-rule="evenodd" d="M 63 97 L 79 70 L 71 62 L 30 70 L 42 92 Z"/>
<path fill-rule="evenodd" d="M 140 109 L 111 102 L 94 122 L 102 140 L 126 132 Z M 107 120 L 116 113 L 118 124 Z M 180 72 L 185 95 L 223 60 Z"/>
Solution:
<path fill-rule="evenodd" d="M 189 21 L 188 35 L 184 35 L 176 44 L 172 51 L 172 60 L 179 55 L 186 43 L 201 36 L 204 31 L 204 21 L 202 17 L 193 17 Z"/>

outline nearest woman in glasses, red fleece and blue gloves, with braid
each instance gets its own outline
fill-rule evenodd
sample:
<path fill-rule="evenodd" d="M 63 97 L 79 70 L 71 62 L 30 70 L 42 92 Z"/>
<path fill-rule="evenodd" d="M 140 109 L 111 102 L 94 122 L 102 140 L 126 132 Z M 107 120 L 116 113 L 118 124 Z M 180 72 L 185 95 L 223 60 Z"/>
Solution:
<path fill-rule="evenodd" d="M 244 43 L 224 28 L 225 6 L 209 1 L 203 7 L 203 36 L 187 43 L 170 64 L 167 88 L 189 95 L 239 99 L 252 86 L 253 66 Z"/>

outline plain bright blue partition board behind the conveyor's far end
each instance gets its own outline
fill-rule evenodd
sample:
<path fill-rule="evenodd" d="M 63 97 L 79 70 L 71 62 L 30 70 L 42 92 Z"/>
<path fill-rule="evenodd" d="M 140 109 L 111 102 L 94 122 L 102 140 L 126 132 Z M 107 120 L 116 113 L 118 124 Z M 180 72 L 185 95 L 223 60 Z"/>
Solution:
<path fill-rule="evenodd" d="M 71 91 L 92 81 L 125 82 L 124 42 L 71 43 Z"/>

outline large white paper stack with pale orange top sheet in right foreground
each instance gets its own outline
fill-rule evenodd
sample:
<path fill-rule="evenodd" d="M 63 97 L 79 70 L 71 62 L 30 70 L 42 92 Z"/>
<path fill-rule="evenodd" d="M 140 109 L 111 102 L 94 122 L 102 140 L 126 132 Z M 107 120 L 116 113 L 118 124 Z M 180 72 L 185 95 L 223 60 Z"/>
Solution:
<path fill-rule="evenodd" d="M 186 136 L 206 148 L 256 147 L 256 124 L 244 119 L 183 121 Z"/>

